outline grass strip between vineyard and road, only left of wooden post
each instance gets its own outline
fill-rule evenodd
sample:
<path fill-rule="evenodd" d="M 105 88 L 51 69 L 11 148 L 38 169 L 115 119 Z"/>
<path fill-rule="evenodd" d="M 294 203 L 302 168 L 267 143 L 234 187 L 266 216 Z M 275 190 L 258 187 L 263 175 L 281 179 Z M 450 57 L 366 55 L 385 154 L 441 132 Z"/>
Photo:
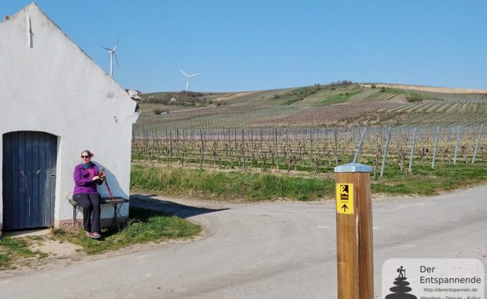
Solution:
<path fill-rule="evenodd" d="M 202 197 L 234 200 L 316 200 L 334 190 L 330 179 L 286 177 L 269 173 L 218 172 L 133 165 L 131 191 L 169 195 L 198 193 Z"/>

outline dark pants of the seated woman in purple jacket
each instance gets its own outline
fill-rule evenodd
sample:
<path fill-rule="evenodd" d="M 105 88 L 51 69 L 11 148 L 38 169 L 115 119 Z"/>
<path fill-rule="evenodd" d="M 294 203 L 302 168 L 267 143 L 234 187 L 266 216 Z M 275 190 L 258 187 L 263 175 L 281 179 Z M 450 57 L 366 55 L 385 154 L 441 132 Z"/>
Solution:
<path fill-rule="evenodd" d="M 99 202 L 102 197 L 98 193 L 81 193 L 74 195 L 73 200 L 83 207 L 83 228 L 85 231 L 99 232 Z"/>

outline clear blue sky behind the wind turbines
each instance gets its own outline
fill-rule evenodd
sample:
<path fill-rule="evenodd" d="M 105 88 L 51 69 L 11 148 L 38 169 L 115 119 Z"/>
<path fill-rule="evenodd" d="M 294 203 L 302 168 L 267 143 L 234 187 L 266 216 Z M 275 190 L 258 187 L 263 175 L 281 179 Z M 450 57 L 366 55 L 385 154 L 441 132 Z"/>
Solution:
<path fill-rule="evenodd" d="M 0 0 L 0 17 L 31 1 Z M 143 92 L 356 82 L 487 89 L 487 1 L 39 0 L 109 72 Z M 5 41 L 3 41 L 5 42 Z"/>

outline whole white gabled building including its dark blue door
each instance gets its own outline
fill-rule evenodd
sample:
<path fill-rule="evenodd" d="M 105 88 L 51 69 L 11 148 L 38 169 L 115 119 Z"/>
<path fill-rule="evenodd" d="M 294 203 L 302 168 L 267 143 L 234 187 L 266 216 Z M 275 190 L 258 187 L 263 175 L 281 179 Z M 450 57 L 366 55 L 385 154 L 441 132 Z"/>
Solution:
<path fill-rule="evenodd" d="M 35 3 L 0 23 L 0 94 L 0 234 L 72 220 L 83 149 L 113 195 L 129 197 L 136 102 Z M 112 217 L 104 205 L 102 218 Z"/>

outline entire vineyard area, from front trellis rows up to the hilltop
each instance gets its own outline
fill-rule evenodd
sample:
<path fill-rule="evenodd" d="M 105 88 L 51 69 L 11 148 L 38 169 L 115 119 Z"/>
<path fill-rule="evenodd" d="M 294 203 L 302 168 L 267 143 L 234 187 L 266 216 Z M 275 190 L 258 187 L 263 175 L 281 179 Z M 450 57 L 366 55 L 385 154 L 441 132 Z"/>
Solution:
<path fill-rule="evenodd" d="M 487 161 L 486 93 L 346 83 L 210 96 L 207 106 L 164 106 L 163 115 L 142 104 L 133 161 L 315 175 L 354 159 L 376 175 Z"/>

